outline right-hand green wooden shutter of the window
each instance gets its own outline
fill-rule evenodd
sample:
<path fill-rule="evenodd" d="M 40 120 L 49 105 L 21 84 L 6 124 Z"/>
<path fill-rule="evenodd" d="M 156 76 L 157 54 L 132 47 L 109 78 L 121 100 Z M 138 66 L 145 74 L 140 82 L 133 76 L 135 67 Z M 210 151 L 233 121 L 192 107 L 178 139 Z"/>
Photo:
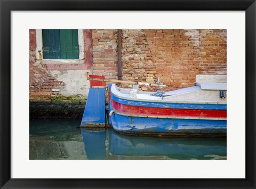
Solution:
<path fill-rule="evenodd" d="M 60 30 L 60 57 L 61 59 L 79 59 L 78 30 Z"/>

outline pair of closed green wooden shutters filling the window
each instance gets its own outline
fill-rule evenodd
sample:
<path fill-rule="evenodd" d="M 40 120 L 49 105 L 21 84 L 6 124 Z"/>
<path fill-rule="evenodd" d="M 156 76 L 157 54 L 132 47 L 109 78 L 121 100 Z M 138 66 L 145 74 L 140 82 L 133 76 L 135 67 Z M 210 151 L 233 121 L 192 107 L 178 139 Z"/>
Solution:
<path fill-rule="evenodd" d="M 77 29 L 43 29 L 43 59 L 79 59 Z"/>

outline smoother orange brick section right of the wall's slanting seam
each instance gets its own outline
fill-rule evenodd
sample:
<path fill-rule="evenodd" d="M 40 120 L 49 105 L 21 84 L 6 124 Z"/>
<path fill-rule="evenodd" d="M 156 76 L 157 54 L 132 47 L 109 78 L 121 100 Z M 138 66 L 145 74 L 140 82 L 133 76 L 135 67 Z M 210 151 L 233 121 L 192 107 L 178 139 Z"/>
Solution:
<path fill-rule="evenodd" d="M 193 86 L 196 75 L 227 74 L 226 30 L 145 30 L 166 89 Z"/>

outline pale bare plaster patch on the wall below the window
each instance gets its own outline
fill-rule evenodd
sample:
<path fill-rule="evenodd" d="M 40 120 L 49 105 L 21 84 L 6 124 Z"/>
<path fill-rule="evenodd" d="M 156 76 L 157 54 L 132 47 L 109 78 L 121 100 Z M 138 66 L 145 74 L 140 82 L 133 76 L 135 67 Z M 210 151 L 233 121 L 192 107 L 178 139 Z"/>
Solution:
<path fill-rule="evenodd" d="M 60 89 L 63 96 L 82 95 L 87 97 L 90 82 L 86 79 L 87 72 L 91 70 L 49 70 L 51 75 L 57 80 L 65 83 L 65 87 Z"/>

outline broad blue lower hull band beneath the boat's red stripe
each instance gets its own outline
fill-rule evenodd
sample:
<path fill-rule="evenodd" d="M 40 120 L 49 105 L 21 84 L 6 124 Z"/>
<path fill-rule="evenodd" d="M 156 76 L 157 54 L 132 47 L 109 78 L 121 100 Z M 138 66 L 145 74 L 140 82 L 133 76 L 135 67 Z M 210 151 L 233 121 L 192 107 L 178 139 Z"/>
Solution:
<path fill-rule="evenodd" d="M 119 133 L 140 135 L 226 136 L 226 120 L 172 119 L 125 116 L 113 113 L 113 128 Z"/>

